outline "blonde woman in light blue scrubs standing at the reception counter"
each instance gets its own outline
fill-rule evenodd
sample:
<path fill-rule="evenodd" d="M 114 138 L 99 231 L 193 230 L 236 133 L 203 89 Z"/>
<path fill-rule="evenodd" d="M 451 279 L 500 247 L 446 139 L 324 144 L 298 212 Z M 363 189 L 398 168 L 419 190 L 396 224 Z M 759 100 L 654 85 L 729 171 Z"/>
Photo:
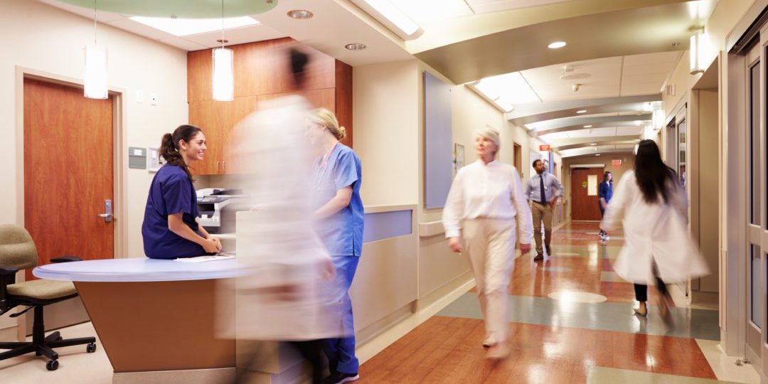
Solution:
<path fill-rule="evenodd" d="M 316 192 L 316 231 L 323 240 L 336 268 L 335 287 L 342 310 L 343 335 L 327 339 L 323 349 L 328 356 L 330 376 L 323 384 L 338 384 L 359 379 L 355 356 L 355 326 L 349 286 L 352 285 L 362 251 L 363 210 L 360 159 L 352 148 L 339 143 L 346 136 L 333 112 L 319 108 L 310 112 L 307 134 L 318 151 L 313 167 Z"/>

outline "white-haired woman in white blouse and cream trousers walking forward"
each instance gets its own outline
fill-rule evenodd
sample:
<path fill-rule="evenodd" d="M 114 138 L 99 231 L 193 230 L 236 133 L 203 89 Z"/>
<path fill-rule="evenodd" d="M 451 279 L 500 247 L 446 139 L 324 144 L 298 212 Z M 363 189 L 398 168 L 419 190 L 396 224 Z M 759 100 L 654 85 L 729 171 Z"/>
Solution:
<path fill-rule="evenodd" d="M 518 171 L 495 160 L 498 131 L 478 131 L 475 150 L 478 161 L 458 170 L 442 221 L 451 250 L 458 253 L 466 247 L 469 253 L 485 319 L 482 343 L 491 348 L 486 357 L 501 359 L 509 353 L 507 298 L 517 227 L 520 250 L 528 253 L 533 224 Z"/>

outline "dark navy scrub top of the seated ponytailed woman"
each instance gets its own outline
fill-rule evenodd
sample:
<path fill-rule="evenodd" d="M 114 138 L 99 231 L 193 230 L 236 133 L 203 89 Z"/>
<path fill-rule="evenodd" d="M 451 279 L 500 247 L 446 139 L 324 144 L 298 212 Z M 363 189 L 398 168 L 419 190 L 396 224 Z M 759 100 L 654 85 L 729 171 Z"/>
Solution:
<path fill-rule="evenodd" d="M 197 234 L 197 192 L 192 180 L 181 167 L 165 164 L 152 179 L 144 210 L 141 236 L 144 254 L 151 259 L 196 257 L 206 253 L 197 243 L 180 237 L 168 229 L 168 215 L 184 212 L 182 218 Z M 200 236 L 202 236 L 200 234 Z"/>

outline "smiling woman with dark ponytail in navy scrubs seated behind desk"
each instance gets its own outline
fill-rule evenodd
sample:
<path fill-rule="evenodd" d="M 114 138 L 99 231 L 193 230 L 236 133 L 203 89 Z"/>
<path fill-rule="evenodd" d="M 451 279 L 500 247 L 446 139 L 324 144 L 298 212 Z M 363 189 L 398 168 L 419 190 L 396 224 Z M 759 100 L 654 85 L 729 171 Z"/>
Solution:
<path fill-rule="evenodd" d="M 164 164 L 152 179 L 141 235 L 151 259 L 176 259 L 215 254 L 221 242 L 197 223 L 197 192 L 189 164 L 203 160 L 205 135 L 194 125 L 165 134 L 160 147 Z"/>

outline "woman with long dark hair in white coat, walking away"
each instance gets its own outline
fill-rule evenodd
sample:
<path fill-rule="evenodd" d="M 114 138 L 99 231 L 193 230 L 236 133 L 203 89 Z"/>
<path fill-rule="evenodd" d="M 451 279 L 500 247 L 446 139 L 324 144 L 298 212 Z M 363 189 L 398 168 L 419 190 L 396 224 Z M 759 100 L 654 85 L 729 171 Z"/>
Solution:
<path fill-rule="evenodd" d="M 661 160 L 654 141 L 641 141 L 634 171 L 621 177 L 600 228 L 624 227 L 624 247 L 614 270 L 633 282 L 639 316 L 647 316 L 647 286 L 660 293 L 661 316 L 669 319 L 671 297 L 666 283 L 680 283 L 709 273 L 687 227 L 687 197 L 677 174 Z"/>

